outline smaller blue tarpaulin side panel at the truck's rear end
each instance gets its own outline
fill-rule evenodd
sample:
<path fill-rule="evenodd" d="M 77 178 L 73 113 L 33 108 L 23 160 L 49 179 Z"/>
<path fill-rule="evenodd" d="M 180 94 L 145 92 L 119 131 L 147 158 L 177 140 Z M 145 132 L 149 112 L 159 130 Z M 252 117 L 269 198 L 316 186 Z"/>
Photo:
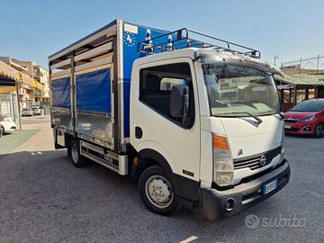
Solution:
<path fill-rule="evenodd" d="M 70 108 L 70 77 L 53 80 L 52 94 L 53 107 Z"/>

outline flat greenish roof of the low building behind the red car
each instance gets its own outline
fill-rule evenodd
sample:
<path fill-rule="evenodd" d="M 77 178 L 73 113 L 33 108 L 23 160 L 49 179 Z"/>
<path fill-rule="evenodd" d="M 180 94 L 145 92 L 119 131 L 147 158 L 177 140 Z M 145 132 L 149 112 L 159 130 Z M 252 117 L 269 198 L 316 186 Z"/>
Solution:
<path fill-rule="evenodd" d="M 322 75 L 275 75 L 275 80 L 291 85 L 324 85 L 324 76 Z"/>

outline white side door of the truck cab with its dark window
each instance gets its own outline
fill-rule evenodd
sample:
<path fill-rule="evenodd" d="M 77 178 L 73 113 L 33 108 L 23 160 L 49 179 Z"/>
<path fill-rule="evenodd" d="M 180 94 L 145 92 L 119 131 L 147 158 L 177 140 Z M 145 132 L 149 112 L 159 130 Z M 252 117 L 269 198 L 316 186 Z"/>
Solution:
<path fill-rule="evenodd" d="M 200 120 L 196 79 L 190 58 L 177 58 L 143 65 L 132 86 L 131 143 L 138 151 L 150 148 L 166 158 L 175 174 L 199 181 Z M 189 87 L 189 114 L 182 118 L 170 113 L 174 85 Z"/>

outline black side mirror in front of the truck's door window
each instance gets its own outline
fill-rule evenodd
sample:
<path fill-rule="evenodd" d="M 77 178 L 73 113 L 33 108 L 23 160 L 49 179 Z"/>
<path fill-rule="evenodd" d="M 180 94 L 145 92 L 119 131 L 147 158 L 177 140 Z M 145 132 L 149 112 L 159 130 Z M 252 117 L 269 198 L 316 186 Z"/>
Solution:
<path fill-rule="evenodd" d="M 189 112 L 189 87 L 187 85 L 175 85 L 170 95 L 170 113 L 173 117 L 182 117 L 185 125 Z"/>

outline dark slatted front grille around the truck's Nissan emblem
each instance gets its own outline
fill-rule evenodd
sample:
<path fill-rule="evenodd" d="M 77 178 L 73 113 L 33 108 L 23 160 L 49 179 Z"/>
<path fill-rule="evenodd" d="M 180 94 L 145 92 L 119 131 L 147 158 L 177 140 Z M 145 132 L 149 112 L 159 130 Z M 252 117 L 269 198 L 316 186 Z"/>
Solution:
<path fill-rule="evenodd" d="M 233 160 L 234 162 L 234 169 L 241 169 L 241 168 L 246 168 L 249 167 L 250 169 L 257 169 L 262 167 L 260 165 L 260 158 L 262 156 L 266 156 L 266 165 L 270 164 L 271 161 L 279 155 L 281 152 L 281 146 L 278 148 L 271 149 L 265 153 L 258 154 L 255 156 L 250 156 L 250 157 L 242 157 L 242 158 L 236 158 Z"/>

